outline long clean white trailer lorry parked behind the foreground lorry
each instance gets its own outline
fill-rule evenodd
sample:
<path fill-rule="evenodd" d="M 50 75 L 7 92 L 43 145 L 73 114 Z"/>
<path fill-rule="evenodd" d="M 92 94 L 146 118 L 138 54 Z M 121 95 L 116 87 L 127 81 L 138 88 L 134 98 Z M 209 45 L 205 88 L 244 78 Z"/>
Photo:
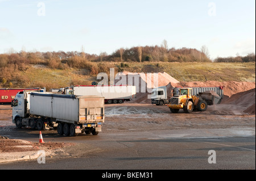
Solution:
<path fill-rule="evenodd" d="M 59 93 L 66 95 L 97 95 L 105 98 L 105 103 L 117 104 L 129 101 L 136 96 L 136 86 L 73 86 L 61 88 Z"/>

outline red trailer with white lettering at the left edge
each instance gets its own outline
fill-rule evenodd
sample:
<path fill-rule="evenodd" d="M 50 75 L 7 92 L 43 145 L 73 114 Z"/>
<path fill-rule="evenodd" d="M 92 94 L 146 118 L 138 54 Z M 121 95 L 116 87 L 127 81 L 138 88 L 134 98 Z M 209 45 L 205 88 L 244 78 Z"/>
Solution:
<path fill-rule="evenodd" d="M 40 88 L 0 88 L 0 104 L 11 103 L 15 95 L 23 90 L 40 90 Z"/>

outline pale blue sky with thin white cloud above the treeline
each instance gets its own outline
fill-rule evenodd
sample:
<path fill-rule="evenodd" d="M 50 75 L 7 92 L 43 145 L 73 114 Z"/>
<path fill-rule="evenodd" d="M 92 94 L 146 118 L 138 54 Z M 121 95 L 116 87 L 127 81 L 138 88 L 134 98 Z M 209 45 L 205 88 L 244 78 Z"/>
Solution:
<path fill-rule="evenodd" d="M 111 54 L 164 39 L 169 48 L 206 45 L 212 59 L 255 53 L 255 1 L 0 0 L 0 53 Z"/>

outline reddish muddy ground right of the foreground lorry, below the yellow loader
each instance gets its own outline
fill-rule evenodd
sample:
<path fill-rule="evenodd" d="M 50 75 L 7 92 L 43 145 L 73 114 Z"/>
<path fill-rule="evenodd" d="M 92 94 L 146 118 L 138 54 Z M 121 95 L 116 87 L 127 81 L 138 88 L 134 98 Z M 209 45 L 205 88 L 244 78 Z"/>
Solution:
<path fill-rule="evenodd" d="M 205 112 L 171 113 L 167 106 L 151 104 L 106 105 L 104 132 L 151 131 L 162 129 L 255 127 L 255 115 L 240 106 L 219 104 Z"/>

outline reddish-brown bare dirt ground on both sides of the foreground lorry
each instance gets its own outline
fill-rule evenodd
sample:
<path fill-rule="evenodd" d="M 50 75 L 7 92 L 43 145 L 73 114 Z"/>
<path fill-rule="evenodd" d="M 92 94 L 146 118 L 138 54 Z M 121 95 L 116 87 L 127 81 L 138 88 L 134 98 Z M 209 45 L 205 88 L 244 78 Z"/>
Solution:
<path fill-rule="evenodd" d="M 193 129 L 203 130 L 207 136 L 210 130 L 218 129 L 217 136 L 255 135 L 255 115 L 249 115 L 243 110 L 245 107 L 239 105 L 218 104 L 209 106 L 205 112 L 195 111 L 188 114 L 183 113 L 182 110 L 179 113 L 171 113 L 167 106 L 152 104 L 106 104 L 105 123 L 100 134 L 128 135 L 140 132 L 161 134 L 176 130 L 183 132 L 184 136 L 196 137 L 195 133 L 188 134 L 188 132 Z M 179 132 L 177 135 L 180 135 Z M 39 144 L 39 131 L 16 128 L 11 122 L 11 107 L 0 106 L 0 155 L 2 160 L 15 157 L 26 158 L 26 155 L 35 154 L 35 151 L 42 149 L 47 150 L 47 155 L 52 157 L 56 153 L 64 153 L 65 148 L 69 148 L 73 145 L 72 142 L 74 144 L 76 142 L 76 138 L 60 138 L 55 130 L 42 131 L 42 133 L 44 138 L 51 138 L 51 141 Z M 172 136 L 175 137 L 175 134 Z M 202 136 L 204 135 L 200 134 L 200 137 Z M 8 137 L 10 139 L 6 139 Z M 83 136 L 78 137 L 81 139 Z M 69 143 L 66 144 L 65 141 Z"/>

